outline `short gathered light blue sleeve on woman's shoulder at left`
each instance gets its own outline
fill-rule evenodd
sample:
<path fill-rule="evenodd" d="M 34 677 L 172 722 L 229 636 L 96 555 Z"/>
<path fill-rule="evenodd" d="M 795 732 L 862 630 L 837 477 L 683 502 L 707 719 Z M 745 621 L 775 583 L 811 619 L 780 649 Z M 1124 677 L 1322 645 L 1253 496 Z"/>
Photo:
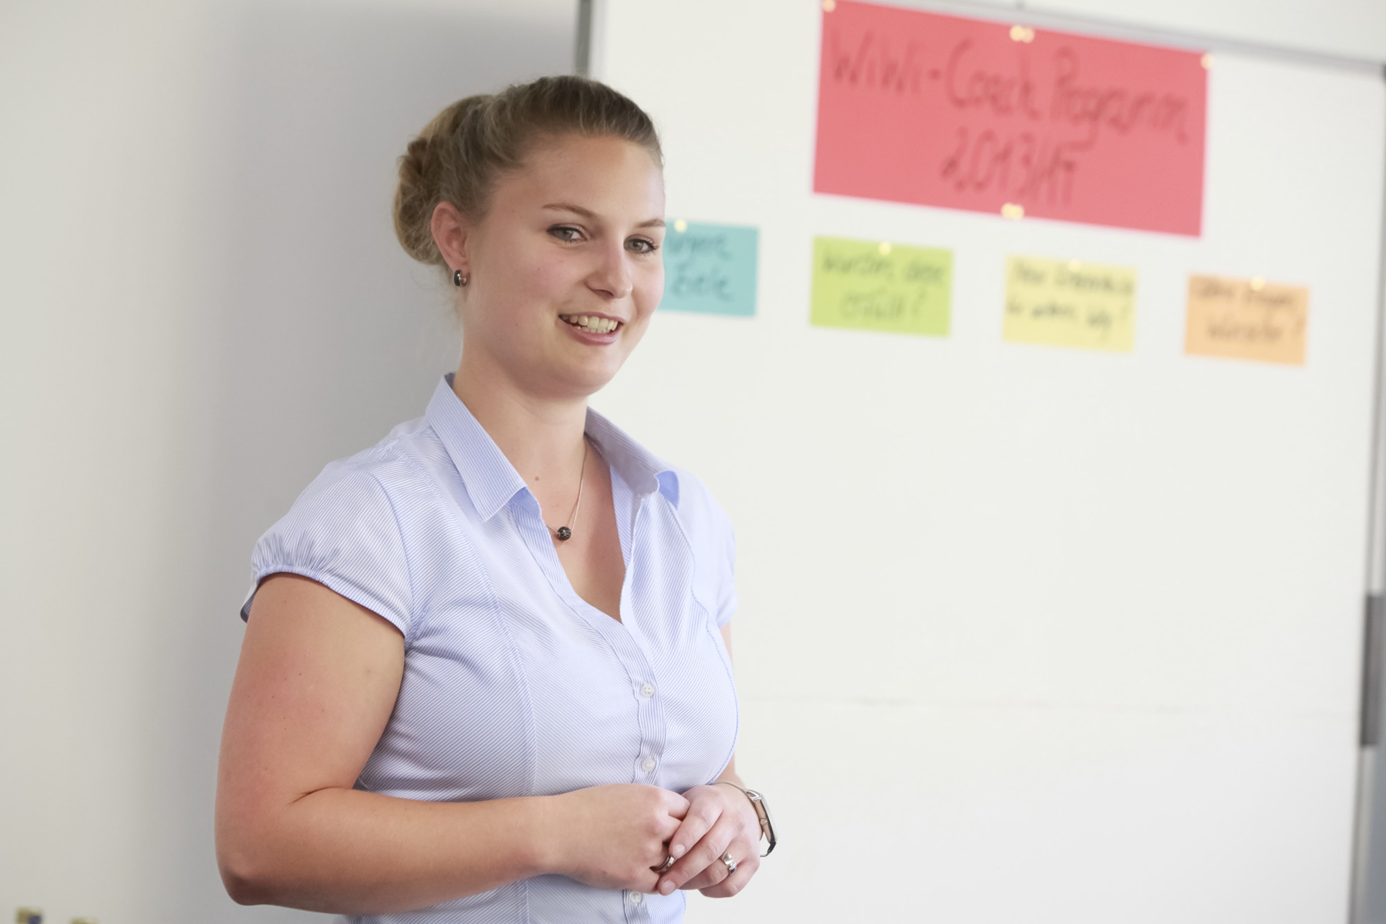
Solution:
<path fill-rule="evenodd" d="M 394 623 L 409 637 L 412 584 L 394 505 L 367 469 L 334 462 L 255 544 L 252 588 L 301 574 Z M 241 617 L 249 619 L 251 591 Z"/>

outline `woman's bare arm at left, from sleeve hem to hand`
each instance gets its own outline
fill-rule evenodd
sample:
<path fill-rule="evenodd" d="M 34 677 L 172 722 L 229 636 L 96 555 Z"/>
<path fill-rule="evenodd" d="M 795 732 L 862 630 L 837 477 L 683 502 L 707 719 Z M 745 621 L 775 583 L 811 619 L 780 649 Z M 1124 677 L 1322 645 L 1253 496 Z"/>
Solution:
<path fill-rule="evenodd" d="M 222 733 L 216 856 L 243 905 L 371 914 L 563 873 L 653 891 L 687 802 L 656 787 L 420 802 L 352 789 L 403 676 L 399 631 L 316 581 L 255 595 Z M 722 787 L 726 788 L 726 787 Z"/>

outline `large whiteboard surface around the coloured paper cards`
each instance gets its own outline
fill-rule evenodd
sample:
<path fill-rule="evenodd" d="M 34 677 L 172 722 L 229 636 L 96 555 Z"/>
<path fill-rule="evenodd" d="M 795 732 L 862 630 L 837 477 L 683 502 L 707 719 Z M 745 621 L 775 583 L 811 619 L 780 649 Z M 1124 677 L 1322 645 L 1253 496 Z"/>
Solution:
<path fill-rule="evenodd" d="M 1006 222 L 811 191 L 821 15 L 593 24 L 669 216 L 761 234 L 754 318 L 661 312 L 595 400 L 737 529 L 782 846 L 690 920 L 1346 920 L 1380 76 L 1214 47 L 1200 237 Z M 811 327 L 815 234 L 951 248 L 951 334 Z M 1003 343 L 1009 254 L 1135 266 L 1134 351 Z M 1307 286 L 1306 365 L 1185 355 L 1189 273 Z"/>

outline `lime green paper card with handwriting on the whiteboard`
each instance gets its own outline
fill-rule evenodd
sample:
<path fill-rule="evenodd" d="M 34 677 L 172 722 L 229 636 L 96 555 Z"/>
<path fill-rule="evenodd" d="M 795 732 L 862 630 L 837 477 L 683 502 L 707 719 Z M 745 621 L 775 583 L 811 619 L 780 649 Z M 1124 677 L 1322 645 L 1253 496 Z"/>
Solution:
<path fill-rule="evenodd" d="M 811 323 L 947 337 L 951 311 L 952 251 L 814 239 Z"/>

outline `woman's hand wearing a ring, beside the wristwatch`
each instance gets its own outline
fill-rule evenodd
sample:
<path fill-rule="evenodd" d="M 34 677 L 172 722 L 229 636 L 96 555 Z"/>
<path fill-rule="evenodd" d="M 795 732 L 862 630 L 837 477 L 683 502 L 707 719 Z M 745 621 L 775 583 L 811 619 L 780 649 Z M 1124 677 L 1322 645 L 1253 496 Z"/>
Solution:
<path fill-rule="evenodd" d="M 683 824 L 669 839 L 678 862 L 660 877 L 658 892 L 699 889 L 708 898 L 736 895 L 761 864 L 761 820 L 746 794 L 725 784 L 693 787 Z M 722 855 L 730 853 L 736 873 L 728 874 Z"/>

